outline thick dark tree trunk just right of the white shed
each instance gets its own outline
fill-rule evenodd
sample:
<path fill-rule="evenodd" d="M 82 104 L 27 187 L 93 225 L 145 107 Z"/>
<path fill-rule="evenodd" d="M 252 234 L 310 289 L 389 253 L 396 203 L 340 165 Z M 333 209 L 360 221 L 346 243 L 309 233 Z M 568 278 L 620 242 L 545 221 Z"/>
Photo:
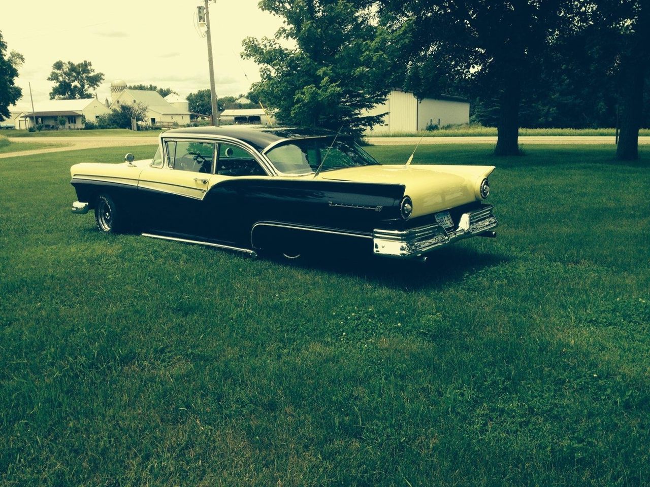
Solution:
<path fill-rule="evenodd" d="M 518 156 L 519 153 L 519 101 L 521 79 L 515 70 L 504 83 L 499 99 L 499 125 L 497 126 L 497 156 Z"/>

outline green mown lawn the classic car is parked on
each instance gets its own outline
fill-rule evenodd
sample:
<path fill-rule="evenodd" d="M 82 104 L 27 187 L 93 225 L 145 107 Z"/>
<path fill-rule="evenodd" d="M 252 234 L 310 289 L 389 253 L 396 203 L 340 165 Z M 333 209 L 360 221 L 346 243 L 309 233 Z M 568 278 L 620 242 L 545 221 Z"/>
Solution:
<path fill-rule="evenodd" d="M 136 150 L 0 160 L 0 485 L 649 484 L 646 147 L 420 147 L 501 223 L 426 265 L 100 235 L 68 169 Z"/>

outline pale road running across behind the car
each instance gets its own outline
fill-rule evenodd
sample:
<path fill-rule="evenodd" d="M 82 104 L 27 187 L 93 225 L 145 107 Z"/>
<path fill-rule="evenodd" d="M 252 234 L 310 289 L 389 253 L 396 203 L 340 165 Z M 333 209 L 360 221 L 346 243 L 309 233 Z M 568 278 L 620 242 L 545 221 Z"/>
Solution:
<path fill-rule="evenodd" d="M 42 138 L 9 138 L 11 142 L 32 142 L 43 144 L 65 144 L 65 147 L 44 147 L 29 151 L 7 152 L 0 158 L 47 154 L 51 152 L 77 151 L 79 149 L 94 149 L 97 147 L 128 147 L 129 145 L 154 145 L 158 136 L 122 136 L 122 137 L 42 137 Z M 415 145 L 419 137 L 369 137 L 372 145 Z M 424 137 L 422 144 L 496 144 L 496 137 Z M 614 136 L 524 136 L 519 137 L 519 144 L 611 144 Z M 649 145 L 650 137 L 639 137 L 639 144 Z"/>

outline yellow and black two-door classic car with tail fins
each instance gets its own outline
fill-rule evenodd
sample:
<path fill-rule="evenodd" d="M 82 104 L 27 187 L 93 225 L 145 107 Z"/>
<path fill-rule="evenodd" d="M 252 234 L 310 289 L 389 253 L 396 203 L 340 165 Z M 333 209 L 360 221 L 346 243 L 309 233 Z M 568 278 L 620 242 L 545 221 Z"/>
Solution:
<path fill-rule="evenodd" d="M 412 158 L 412 156 L 411 156 Z M 495 236 L 493 166 L 380 164 L 350 136 L 288 127 L 162 132 L 153 158 L 75 164 L 72 212 L 99 231 L 202 243 L 256 256 L 360 248 L 426 258 Z"/>

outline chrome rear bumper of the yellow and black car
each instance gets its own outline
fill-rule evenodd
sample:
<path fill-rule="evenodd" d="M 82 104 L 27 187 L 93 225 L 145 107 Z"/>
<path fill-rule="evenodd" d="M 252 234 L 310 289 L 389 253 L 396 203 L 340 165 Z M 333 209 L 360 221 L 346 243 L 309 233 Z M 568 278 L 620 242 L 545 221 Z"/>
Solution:
<path fill-rule="evenodd" d="M 478 210 L 463 213 L 458 226 L 446 230 L 438 223 L 424 225 L 408 230 L 374 229 L 372 232 L 372 247 L 377 255 L 387 257 L 411 258 L 420 257 L 436 247 L 445 245 L 460 238 L 472 236 L 495 236 L 494 232 L 499 222 L 495 218 L 493 206 L 484 205 Z"/>

